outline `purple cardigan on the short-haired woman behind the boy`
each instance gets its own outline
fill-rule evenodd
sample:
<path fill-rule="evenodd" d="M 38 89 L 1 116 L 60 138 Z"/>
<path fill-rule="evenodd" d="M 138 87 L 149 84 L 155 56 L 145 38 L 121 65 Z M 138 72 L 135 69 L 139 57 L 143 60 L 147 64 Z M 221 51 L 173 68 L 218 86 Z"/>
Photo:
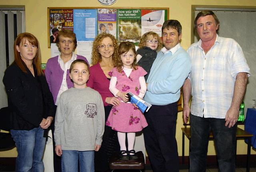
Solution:
<path fill-rule="evenodd" d="M 81 55 L 76 55 L 76 56 L 77 56 L 76 59 L 82 59 L 86 61 L 86 63 L 89 65 L 87 59 L 84 56 L 81 56 Z M 55 104 L 59 90 L 60 90 L 60 86 L 62 83 L 63 74 L 64 74 L 64 71 L 61 69 L 60 65 L 58 64 L 58 56 L 48 59 L 44 73 L 45 73 L 50 91 L 52 92 L 52 96 Z M 74 86 L 73 82 L 69 77 L 69 69 L 67 70 L 66 80 L 67 80 L 68 88 L 71 88 L 72 86 Z"/>

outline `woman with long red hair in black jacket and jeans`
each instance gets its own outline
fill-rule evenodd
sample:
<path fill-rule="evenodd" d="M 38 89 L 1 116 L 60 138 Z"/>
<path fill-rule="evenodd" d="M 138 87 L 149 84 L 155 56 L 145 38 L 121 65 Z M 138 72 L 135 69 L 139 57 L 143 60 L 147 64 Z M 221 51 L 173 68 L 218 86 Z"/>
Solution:
<path fill-rule="evenodd" d="M 4 72 L 3 83 L 12 109 L 10 133 L 18 151 L 16 171 L 44 172 L 44 132 L 54 118 L 54 103 L 41 69 L 38 40 L 20 33 L 14 42 L 14 62 Z"/>

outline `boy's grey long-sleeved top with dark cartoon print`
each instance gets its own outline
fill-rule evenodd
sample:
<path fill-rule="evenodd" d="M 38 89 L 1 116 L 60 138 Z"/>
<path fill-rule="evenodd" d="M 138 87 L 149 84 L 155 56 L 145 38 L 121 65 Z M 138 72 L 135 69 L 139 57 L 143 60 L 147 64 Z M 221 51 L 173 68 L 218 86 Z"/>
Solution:
<path fill-rule="evenodd" d="M 90 87 L 70 88 L 60 95 L 55 117 L 54 140 L 62 150 L 93 151 L 104 133 L 104 106 Z"/>

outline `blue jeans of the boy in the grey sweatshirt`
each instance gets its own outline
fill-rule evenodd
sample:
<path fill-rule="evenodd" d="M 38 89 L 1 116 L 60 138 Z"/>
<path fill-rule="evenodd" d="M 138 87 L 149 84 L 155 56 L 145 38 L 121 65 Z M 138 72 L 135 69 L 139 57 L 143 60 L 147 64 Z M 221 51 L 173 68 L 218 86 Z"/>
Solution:
<path fill-rule="evenodd" d="M 94 172 L 94 151 L 68 151 L 62 150 L 62 172 L 77 172 L 78 158 L 80 172 Z"/>

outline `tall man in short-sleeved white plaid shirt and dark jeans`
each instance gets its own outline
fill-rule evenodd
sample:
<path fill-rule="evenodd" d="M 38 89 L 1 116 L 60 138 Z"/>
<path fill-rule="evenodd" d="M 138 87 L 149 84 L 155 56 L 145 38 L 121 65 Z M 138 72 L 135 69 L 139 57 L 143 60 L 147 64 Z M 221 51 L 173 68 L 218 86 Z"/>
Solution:
<path fill-rule="evenodd" d="M 199 12 L 194 27 L 200 40 L 187 51 L 192 68 L 183 86 L 183 116 L 187 123 L 191 111 L 190 172 L 206 171 L 211 130 L 220 171 L 235 171 L 236 122 L 250 69 L 240 45 L 218 36 L 219 25 L 212 11 Z"/>

